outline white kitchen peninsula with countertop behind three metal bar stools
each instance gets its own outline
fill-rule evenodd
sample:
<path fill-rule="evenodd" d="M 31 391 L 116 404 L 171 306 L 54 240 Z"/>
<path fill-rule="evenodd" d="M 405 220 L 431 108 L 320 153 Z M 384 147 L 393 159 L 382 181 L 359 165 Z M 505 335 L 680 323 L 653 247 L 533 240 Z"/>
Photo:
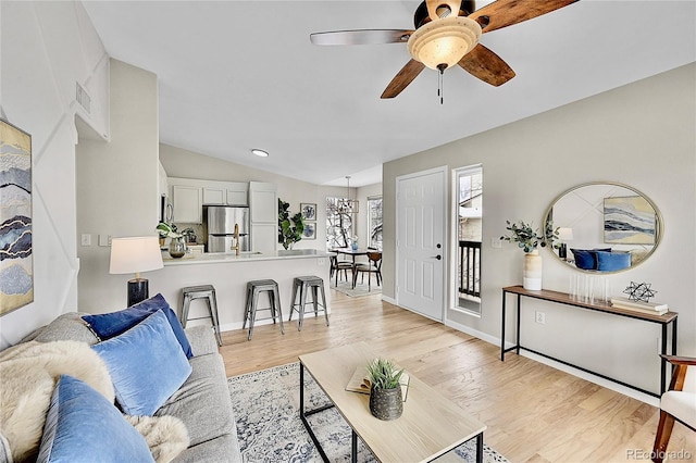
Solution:
<path fill-rule="evenodd" d="M 328 295 L 328 254 L 313 249 L 299 249 L 270 252 L 232 253 L 187 253 L 181 259 L 172 259 L 166 252 L 162 253 L 164 268 L 148 273 L 150 280 L 150 296 L 161 292 L 177 314 L 181 314 L 183 301 L 182 288 L 196 285 L 213 285 L 217 299 L 217 315 L 220 329 L 227 331 L 240 329 L 244 323 L 247 281 L 254 279 L 274 279 L 278 284 L 281 310 L 284 321 L 290 314 L 290 296 L 293 279 L 297 276 L 315 275 L 324 280 L 326 304 L 331 313 Z M 154 288 L 157 288 L 154 290 Z M 259 308 L 268 308 L 265 296 L 259 298 Z M 204 300 L 191 302 L 189 318 L 208 314 Z M 261 312 L 259 317 L 269 316 L 269 312 Z M 304 318 L 304 324 L 314 317 Z M 297 321 L 297 314 L 293 316 Z M 323 317 L 318 318 L 323 322 Z M 272 323 L 260 321 L 256 326 Z M 209 320 L 191 321 L 189 326 L 210 324 Z M 248 327 L 248 326 L 247 326 Z M 286 329 L 288 327 L 286 326 Z M 297 325 L 294 324 L 294 329 Z M 281 336 L 278 331 L 278 336 Z"/>

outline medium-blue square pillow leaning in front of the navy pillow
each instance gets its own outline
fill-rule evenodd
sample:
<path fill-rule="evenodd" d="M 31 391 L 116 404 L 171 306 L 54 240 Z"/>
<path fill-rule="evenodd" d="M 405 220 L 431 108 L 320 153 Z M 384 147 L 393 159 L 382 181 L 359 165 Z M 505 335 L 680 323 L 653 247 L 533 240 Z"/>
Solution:
<path fill-rule="evenodd" d="M 162 311 L 92 349 L 107 363 L 116 402 L 129 415 L 151 416 L 191 373 Z"/>

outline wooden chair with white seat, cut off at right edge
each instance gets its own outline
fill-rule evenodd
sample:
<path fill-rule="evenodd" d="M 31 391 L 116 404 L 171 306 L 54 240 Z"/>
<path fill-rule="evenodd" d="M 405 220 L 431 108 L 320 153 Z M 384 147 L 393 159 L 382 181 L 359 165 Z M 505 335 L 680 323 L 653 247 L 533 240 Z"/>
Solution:
<path fill-rule="evenodd" d="M 657 425 L 652 461 L 661 463 L 672 436 L 674 421 L 696 430 L 696 359 L 661 355 L 674 365 L 670 388 L 660 398 L 660 422 Z"/>

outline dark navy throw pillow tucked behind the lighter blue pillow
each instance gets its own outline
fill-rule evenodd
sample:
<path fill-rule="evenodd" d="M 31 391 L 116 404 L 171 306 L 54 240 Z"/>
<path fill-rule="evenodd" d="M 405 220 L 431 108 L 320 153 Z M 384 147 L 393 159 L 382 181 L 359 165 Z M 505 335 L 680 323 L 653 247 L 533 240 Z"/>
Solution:
<path fill-rule="evenodd" d="M 114 336 L 119 336 L 126 329 L 129 329 L 142 322 L 158 310 L 164 312 L 164 315 L 166 315 L 166 318 L 170 321 L 174 335 L 176 335 L 178 343 L 182 345 L 182 349 L 184 350 L 186 358 L 190 359 L 194 356 L 191 346 L 188 343 L 188 338 L 186 338 L 182 324 L 162 295 L 158 293 L 150 299 L 146 299 L 145 301 L 130 305 L 128 309 L 120 312 L 85 315 L 83 316 L 83 320 L 87 322 L 91 330 L 95 331 L 99 339 L 103 341 L 111 339 Z"/>

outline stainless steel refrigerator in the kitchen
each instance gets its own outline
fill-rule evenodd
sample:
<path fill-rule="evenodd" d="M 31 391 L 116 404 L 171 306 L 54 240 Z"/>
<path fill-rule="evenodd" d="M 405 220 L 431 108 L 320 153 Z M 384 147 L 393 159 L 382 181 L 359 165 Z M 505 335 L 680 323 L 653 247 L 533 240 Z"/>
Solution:
<path fill-rule="evenodd" d="M 239 251 L 251 250 L 249 207 L 204 205 L 208 252 L 234 252 L 235 224 L 239 227 Z"/>

